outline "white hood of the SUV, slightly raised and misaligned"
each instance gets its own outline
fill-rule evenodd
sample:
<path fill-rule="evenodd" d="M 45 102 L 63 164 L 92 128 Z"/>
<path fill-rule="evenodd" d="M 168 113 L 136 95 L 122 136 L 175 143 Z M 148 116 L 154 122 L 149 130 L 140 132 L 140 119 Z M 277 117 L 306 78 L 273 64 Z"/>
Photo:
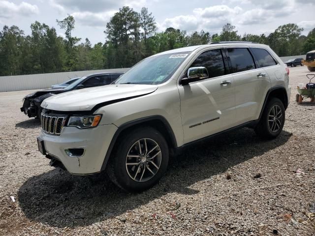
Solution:
<path fill-rule="evenodd" d="M 64 92 L 43 101 L 41 107 L 54 111 L 91 111 L 95 106 L 146 95 L 158 89 L 156 85 L 106 85 Z"/>

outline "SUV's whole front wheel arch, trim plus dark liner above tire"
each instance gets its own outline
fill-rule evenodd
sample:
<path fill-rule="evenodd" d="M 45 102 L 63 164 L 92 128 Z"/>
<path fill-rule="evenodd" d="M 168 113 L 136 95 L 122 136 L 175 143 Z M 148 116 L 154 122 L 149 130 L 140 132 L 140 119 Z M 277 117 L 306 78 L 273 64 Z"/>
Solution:
<path fill-rule="evenodd" d="M 113 139 L 109 145 L 109 148 L 107 149 L 101 171 L 104 171 L 106 169 L 106 165 L 110 159 L 111 153 L 115 147 L 116 141 L 122 137 L 125 133 L 130 131 L 131 129 L 142 127 L 142 126 L 150 126 L 155 129 L 157 129 L 165 138 L 168 148 L 170 150 L 175 150 L 178 148 L 177 141 L 174 135 L 174 132 L 169 124 L 169 122 L 166 120 L 166 118 L 156 115 L 156 116 L 150 116 L 145 118 L 139 118 L 136 120 L 128 121 L 124 123 L 123 125 L 119 126 L 117 131 L 115 132 Z"/>

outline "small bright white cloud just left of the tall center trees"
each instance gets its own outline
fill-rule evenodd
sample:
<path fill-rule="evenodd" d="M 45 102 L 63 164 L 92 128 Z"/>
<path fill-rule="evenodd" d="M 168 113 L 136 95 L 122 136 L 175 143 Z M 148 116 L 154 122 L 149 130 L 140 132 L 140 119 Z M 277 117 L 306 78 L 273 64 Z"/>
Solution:
<path fill-rule="evenodd" d="M 115 14 L 115 11 L 92 13 L 92 12 L 74 12 L 71 15 L 74 19 L 84 26 L 106 27 L 106 23 Z"/>

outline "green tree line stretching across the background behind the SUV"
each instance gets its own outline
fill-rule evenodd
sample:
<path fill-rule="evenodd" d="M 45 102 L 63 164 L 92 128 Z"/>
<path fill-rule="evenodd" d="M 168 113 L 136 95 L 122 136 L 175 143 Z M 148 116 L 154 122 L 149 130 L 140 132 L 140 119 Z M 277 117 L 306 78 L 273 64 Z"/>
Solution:
<path fill-rule="evenodd" d="M 140 12 L 128 6 L 120 8 L 106 24 L 105 42 L 94 46 L 88 38 L 72 35 L 73 16 L 56 21 L 64 30 L 64 38 L 57 35 L 54 27 L 38 21 L 31 25 L 31 35 L 25 35 L 17 26 L 5 25 L 0 31 L 0 76 L 131 67 L 159 52 L 216 41 L 267 44 L 280 57 L 315 50 L 315 29 L 307 36 L 301 35 L 303 28 L 296 24 L 279 26 L 269 35 L 240 35 L 229 23 L 214 34 L 174 28 L 157 32 L 155 18 L 145 7 Z"/>

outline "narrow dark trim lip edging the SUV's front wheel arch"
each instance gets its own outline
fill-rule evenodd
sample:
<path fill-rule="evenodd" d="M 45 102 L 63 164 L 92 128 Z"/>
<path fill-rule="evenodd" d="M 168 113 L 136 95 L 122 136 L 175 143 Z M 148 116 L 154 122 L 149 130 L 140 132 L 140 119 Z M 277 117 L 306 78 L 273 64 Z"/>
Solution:
<path fill-rule="evenodd" d="M 112 150 L 113 150 L 113 148 L 114 148 L 114 146 L 116 144 L 117 138 L 124 130 L 126 130 L 126 128 L 129 128 L 129 127 L 131 127 L 133 125 L 141 124 L 141 123 L 144 123 L 144 122 L 147 122 L 147 121 L 153 121 L 153 120 L 159 120 L 165 125 L 166 131 L 169 134 L 170 139 L 171 139 L 171 148 L 174 148 L 174 149 L 178 148 L 174 132 L 173 132 L 170 124 L 166 120 L 166 118 L 164 118 L 164 117 L 162 117 L 160 115 L 156 115 L 156 116 L 150 116 L 150 117 L 139 118 L 139 119 L 135 119 L 135 120 L 132 120 L 132 121 L 128 121 L 128 122 L 124 123 L 123 125 L 119 126 L 117 131 L 115 132 L 115 134 L 114 134 L 114 136 L 112 138 L 112 141 L 110 142 L 110 145 L 109 145 L 109 147 L 107 149 L 107 152 L 106 152 L 106 155 L 105 155 L 105 158 L 104 158 L 104 161 L 103 161 L 103 164 L 102 164 L 102 167 L 101 167 L 100 171 L 104 171 L 105 170 L 106 165 L 108 163 L 108 160 L 110 158 L 110 155 L 112 153 Z"/>

